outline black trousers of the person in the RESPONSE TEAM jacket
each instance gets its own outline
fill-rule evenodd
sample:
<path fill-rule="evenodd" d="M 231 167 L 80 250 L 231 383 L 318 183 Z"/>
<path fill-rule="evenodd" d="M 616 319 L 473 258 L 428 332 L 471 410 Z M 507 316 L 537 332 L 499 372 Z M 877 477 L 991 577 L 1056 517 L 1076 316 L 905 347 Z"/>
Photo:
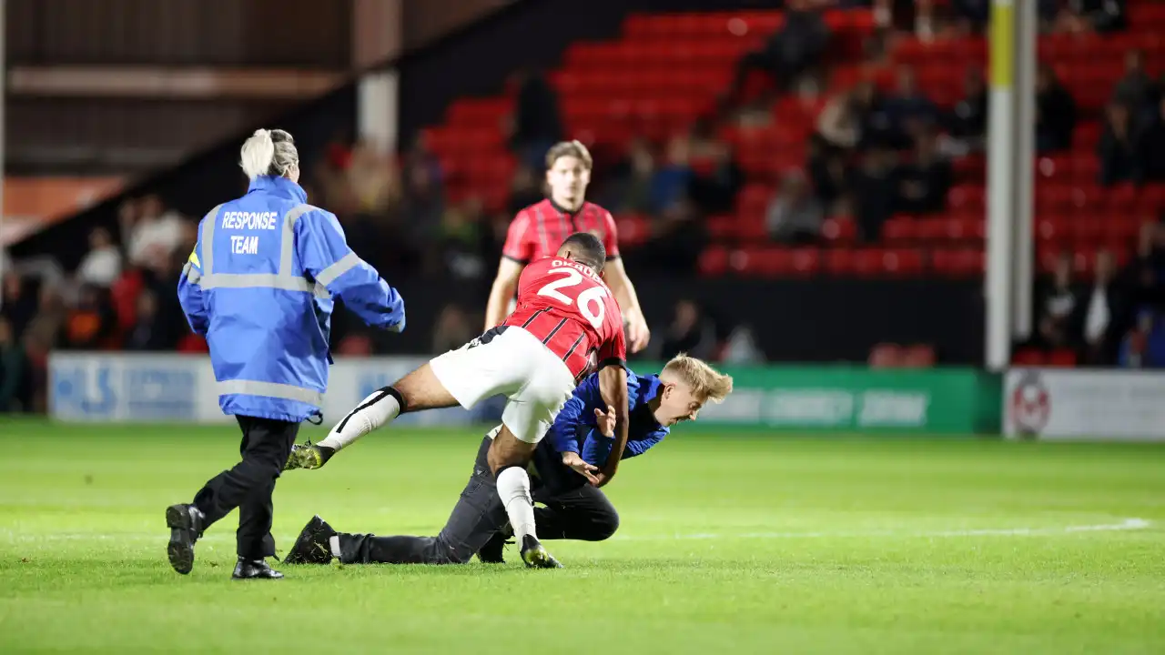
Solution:
<path fill-rule="evenodd" d="M 206 515 L 203 529 L 238 507 L 239 557 L 273 557 L 271 494 L 275 493 L 275 480 L 291 455 L 299 424 L 253 416 L 235 418 L 242 429 L 242 443 L 239 444 L 242 462 L 211 478 L 195 495 L 195 506 Z"/>

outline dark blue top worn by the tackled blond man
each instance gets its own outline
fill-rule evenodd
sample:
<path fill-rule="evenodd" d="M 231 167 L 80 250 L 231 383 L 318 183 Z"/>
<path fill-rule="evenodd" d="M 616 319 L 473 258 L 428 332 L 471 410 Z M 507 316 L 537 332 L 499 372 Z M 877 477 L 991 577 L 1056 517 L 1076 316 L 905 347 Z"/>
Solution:
<path fill-rule="evenodd" d="M 668 436 L 670 428 L 661 425 L 651 414 L 649 401 L 659 393 L 658 375 L 636 375 L 627 372 L 627 406 L 630 424 L 627 427 L 627 448 L 622 459 L 643 455 Z M 558 452 L 578 452 L 587 463 L 602 466 L 615 446 L 613 437 L 598 429 L 594 410 L 606 411 L 607 403 L 599 390 L 599 374 L 592 373 L 574 389 L 574 394 L 555 418 L 543 442 Z"/>

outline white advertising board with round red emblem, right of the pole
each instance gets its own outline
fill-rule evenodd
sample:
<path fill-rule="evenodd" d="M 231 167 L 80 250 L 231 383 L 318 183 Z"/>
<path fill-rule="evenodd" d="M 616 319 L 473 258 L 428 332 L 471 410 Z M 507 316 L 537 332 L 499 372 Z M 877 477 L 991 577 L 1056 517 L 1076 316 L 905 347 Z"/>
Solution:
<path fill-rule="evenodd" d="M 1003 429 L 1045 441 L 1165 441 L 1165 373 L 1012 368 Z"/>

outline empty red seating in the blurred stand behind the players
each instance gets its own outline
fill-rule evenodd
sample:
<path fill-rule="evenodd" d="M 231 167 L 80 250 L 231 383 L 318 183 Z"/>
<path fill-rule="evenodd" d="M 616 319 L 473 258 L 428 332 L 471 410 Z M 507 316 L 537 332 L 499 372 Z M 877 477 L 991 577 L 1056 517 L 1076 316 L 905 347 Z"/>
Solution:
<path fill-rule="evenodd" d="M 712 111 L 735 62 L 760 47 L 782 20 L 776 10 L 640 14 L 624 21 L 617 41 L 571 45 L 564 65 L 550 76 L 565 107 L 566 132 L 605 152 L 626 148 L 633 135 L 658 141 L 687 132 Z M 1102 185 L 1102 161 L 1096 154 L 1103 135 L 1102 110 L 1113 80 L 1121 77 L 1125 54 L 1141 50 L 1146 54 L 1148 71 L 1162 70 L 1163 21 L 1165 7 L 1131 2 L 1128 31 L 1048 34 L 1040 40 L 1040 61 L 1055 71 L 1079 106 L 1071 147 L 1042 153 L 1033 162 L 1038 261 L 1045 272 L 1066 248 L 1076 253 L 1075 267 L 1082 274 L 1089 273 L 1099 247 L 1128 262 L 1139 225 L 1165 202 L 1160 182 Z M 805 165 L 824 98 L 862 79 L 874 80 L 882 93 L 892 93 L 896 71 L 909 66 L 916 71 L 922 94 L 940 113 L 953 114 L 961 100 L 962 71 L 981 71 L 987 64 L 987 43 L 979 36 L 897 35 L 888 56 L 870 62 L 864 50 L 876 30 L 873 12 L 828 10 L 825 22 L 832 33 L 826 91 L 809 99 L 782 94 L 772 103 L 768 124 L 720 131 L 719 136 L 735 148 L 748 183 L 735 211 L 708 219 L 712 244 L 701 256 L 701 269 L 711 275 L 758 276 L 980 275 L 986 205 L 986 164 L 980 153 L 953 160 L 945 211 L 895 213 L 881 238 L 871 242 L 857 242 L 854 219 L 841 213 L 824 221 L 820 247 L 758 244 L 769 232 L 765 206 L 774 177 Z M 429 131 L 430 143 L 447 171 L 452 198 L 480 195 L 488 207 L 504 206 L 517 164 L 496 126 L 511 108 L 513 96 L 461 99 L 450 108 L 444 125 Z M 698 169 L 709 162 L 693 160 L 690 165 Z M 624 213 L 619 221 L 633 240 L 651 232 L 642 214 Z"/>

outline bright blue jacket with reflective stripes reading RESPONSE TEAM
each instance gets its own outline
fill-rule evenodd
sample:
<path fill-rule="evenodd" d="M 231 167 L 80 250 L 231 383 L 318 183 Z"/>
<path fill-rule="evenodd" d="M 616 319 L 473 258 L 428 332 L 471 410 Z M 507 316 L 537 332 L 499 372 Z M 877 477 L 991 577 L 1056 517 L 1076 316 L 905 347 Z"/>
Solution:
<path fill-rule="evenodd" d="M 178 301 L 206 337 L 224 414 L 322 416 L 336 298 L 368 325 L 404 329 L 400 294 L 352 252 L 336 214 L 306 202 L 298 184 L 261 175 L 198 226 Z"/>

